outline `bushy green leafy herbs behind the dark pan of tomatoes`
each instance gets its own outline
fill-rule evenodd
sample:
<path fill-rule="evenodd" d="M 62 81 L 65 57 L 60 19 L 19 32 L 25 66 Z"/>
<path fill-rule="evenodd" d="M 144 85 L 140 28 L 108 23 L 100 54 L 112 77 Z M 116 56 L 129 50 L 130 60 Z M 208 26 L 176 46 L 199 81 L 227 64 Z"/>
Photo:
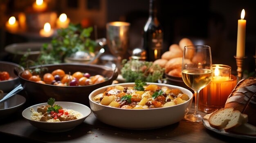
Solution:
<path fill-rule="evenodd" d="M 80 24 L 70 24 L 65 29 L 58 29 L 52 41 L 43 44 L 38 60 L 31 62 L 30 65 L 61 63 L 65 57 L 77 51 L 94 52 L 97 43 L 90 39 L 92 31 L 92 27 L 83 29 Z M 26 57 L 28 55 L 21 59 L 22 66 L 27 66 Z"/>

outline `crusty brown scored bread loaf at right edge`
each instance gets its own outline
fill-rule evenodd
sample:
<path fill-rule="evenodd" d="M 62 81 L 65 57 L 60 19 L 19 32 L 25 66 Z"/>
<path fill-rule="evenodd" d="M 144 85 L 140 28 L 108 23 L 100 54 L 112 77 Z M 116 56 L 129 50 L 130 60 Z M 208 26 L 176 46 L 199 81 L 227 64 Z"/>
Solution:
<path fill-rule="evenodd" d="M 238 82 L 225 103 L 225 108 L 229 107 L 247 114 L 248 123 L 256 125 L 256 78 Z"/>

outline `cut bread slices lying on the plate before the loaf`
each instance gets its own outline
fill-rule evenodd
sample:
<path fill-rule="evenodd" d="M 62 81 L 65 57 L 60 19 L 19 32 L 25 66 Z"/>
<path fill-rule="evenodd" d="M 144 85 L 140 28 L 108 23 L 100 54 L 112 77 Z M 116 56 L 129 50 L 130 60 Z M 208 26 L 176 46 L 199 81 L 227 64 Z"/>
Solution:
<path fill-rule="evenodd" d="M 211 127 L 227 132 L 247 122 L 248 116 L 234 108 L 221 108 L 209 117 Z"/>

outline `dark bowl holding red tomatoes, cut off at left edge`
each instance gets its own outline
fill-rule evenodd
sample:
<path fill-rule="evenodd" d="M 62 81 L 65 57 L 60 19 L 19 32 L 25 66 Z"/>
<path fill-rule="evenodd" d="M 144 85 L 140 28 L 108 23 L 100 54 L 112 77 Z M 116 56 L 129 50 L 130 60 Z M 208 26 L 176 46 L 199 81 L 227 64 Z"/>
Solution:
<path fill-rule="evenodd" d="M 0 81 L 0 90 L 3 92 L 10 92 L 20 84 L 18 75 L 14 73 L 15 69 L 17 69 L 17 72 L 24 70 L 22 66 L 13 62 L 0 61 L 0 72 L 6 71 L 10 77 L 13 77 L 13 79 Z"/>

